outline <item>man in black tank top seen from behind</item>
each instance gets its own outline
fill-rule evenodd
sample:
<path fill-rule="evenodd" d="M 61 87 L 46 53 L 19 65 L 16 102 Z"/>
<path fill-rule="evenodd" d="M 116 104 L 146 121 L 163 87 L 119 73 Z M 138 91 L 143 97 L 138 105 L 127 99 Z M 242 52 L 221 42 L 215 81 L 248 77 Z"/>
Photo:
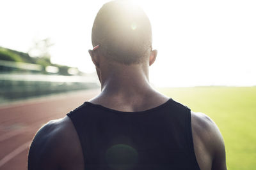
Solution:
<path fill-rule="evenodd" d="M 101 92 L 37 133 L 28 169 L 227 169 L 211 118 L 154 90 L 147 15 L 127 1 L 97 13 L 89 50 Z M 172 78 L 170 76 L 169 78 Z"/>

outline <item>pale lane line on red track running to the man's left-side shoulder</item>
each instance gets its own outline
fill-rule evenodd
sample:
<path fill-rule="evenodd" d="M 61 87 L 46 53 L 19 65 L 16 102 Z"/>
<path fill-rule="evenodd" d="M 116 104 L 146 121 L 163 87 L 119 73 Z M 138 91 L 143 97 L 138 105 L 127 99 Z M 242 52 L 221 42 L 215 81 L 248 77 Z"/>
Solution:
<path fill-rule="evenodd" d="M 8 153 L 5 157 L 3 157 L 3 159 L 0 160 L 0 167 L 6 164 L 6 162 L 8 162 L 9 160 L 13 159 L 15 156 L 19 155 L 19 153 L 26 150 L 29 147 L 30 143 L 31 141 L 28 141 L 23 145 L 20 145 L 18 148 L 16 148 L 12 152 Z"/>

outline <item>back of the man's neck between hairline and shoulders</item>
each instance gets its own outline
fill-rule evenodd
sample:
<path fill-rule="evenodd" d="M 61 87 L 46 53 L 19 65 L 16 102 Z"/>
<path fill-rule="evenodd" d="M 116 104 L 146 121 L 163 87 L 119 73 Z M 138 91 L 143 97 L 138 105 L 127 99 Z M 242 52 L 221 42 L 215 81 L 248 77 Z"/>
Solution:
<path fill-rule="evenodd" d="M 148 66 L 134 64 L 107 68 L 100 71 L 102 95 L 134 97 L 152 90 L 148 80 Z"/>

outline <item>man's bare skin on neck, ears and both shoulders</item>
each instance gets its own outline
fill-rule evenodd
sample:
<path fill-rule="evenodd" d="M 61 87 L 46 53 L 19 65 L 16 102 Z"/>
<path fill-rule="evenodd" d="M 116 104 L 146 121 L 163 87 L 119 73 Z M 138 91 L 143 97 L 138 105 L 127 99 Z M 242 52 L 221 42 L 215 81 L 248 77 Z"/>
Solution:
<path fill-rule="evenodd" d="M 144 63 L 130 66 L 107 60 L 100 46 L 89 53 L 102 91 L 90 99 L 91 103 L 119 111 L 143 111 L 170 99 L 149 84 L 148 67 L 156 60 L 157 50 L 152 50 Z M 193 111 L 191 125 L 200 169 L 227 169 L 225 145 L 217 125 L 204 113 Z M 81 144 L 70 118 L 52 120 L 38 130 L 29 149 L 28 169 L 84 169 Z"/>

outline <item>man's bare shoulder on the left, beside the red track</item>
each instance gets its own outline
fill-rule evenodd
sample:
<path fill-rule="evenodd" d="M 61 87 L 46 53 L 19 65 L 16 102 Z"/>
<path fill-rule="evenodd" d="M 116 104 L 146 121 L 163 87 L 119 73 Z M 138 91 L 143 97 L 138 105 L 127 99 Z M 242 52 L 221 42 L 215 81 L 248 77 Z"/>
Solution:
<path fill-rule="evenodd" d="M 79 138 L 70 118 L 51 120 L 36 132 L 29 148 L 28 169 L 72 169 L 69 163 L 83 161 L 81 154 Z"/>

